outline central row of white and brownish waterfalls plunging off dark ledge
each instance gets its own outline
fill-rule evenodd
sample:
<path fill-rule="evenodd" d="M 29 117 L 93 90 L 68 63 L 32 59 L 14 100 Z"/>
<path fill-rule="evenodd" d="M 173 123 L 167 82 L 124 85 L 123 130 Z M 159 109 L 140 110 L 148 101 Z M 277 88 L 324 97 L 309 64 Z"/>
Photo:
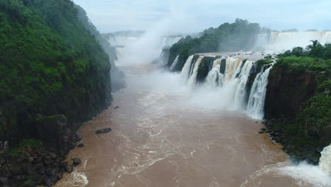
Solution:
<path fill-rule="evenodd" d="M 204 56 L 188 57 L 181 72 L 181 79 L 188 88 L 194 89 L 197 84 L 199 66 Z M 262 119 L 267 89 L 267 79 L 272 66 L 257 74 L 250 93 L 247 83 L 255 62 L 243 58 L 226 57 L 212 62 L 209 73 L 202 83 L 201 89 L 209 94 L 218 94 L 223 102 L 221 108 L 246 111 L 253 118 Z M 248 97 L 247 97 L 248 96 Z"/>

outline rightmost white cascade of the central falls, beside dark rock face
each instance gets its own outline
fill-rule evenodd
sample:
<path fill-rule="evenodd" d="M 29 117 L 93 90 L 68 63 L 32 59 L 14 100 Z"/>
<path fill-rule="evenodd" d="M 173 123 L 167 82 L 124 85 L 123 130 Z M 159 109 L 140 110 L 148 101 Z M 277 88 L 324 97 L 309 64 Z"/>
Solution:
<path fill-rule="evenodd" d="M 252 118 L 262 119 L 265 115 L 265 94 L 267 92 L 268 77 L 272 66 L 268 67 L 267 69 L 265 69 L 265 67 L 266 65 L 263 65 L 261 72 L 255 77 L 252 89 L 250 91 L 247 111 Z"/>

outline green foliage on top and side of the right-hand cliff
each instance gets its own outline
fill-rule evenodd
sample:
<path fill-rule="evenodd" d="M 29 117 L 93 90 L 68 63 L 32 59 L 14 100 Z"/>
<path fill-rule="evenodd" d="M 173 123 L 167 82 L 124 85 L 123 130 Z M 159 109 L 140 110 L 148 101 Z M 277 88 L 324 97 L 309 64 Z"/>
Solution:
<path fill-rule="evenodd" d="M 304 77 L 308 72 L 315 77 L 315 94 L 293 118 L 280 124 L 279 130 L 283 132 L 282 141 L 291 155 L 301 155 L 299 159 L 308 157 L 316 163 L 320 154 L 315 152 L 315 148 L 322 149 L 331 143 L 331 45 L 320 45 L 317 40 L 312 42 L 306 50 L 295 47 L 279 55 L 274 68 L 297 77 Z M 306 91 L 306 85 L 301 84 L 301 91 Z M 315 148 L 311 150 L 311 147 Z"/>

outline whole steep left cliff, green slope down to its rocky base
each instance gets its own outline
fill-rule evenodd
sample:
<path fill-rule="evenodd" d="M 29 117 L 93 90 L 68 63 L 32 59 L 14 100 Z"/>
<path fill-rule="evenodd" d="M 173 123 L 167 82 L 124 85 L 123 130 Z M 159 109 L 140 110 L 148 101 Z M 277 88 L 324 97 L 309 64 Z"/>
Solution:
<path fill-rule="evenodd" d="M 0 186 L 54 184 L 71 170 L 61 162 L 74 131 L 112 100 L 114 57 L 79 11 L 70 0 L 0 1 Z"/>

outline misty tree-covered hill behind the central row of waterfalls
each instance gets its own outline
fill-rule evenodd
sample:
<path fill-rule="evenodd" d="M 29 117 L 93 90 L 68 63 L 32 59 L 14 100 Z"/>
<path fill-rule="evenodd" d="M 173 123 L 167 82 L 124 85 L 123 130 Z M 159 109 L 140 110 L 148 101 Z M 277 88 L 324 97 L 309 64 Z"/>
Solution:
<path fill-rule="evenodd" d="M 218 28 L 204 30 L 199 38 L 183 38 L 170 48 L 168 66 L 179 55 L 175 71 L 180 71 L 185 60 L 197 52 L 229 52 L 248 50 L 255 42 L 255 35 L 262 32 L 259 24 L 236 19 L 235 23 L 223 23 Z"/>

